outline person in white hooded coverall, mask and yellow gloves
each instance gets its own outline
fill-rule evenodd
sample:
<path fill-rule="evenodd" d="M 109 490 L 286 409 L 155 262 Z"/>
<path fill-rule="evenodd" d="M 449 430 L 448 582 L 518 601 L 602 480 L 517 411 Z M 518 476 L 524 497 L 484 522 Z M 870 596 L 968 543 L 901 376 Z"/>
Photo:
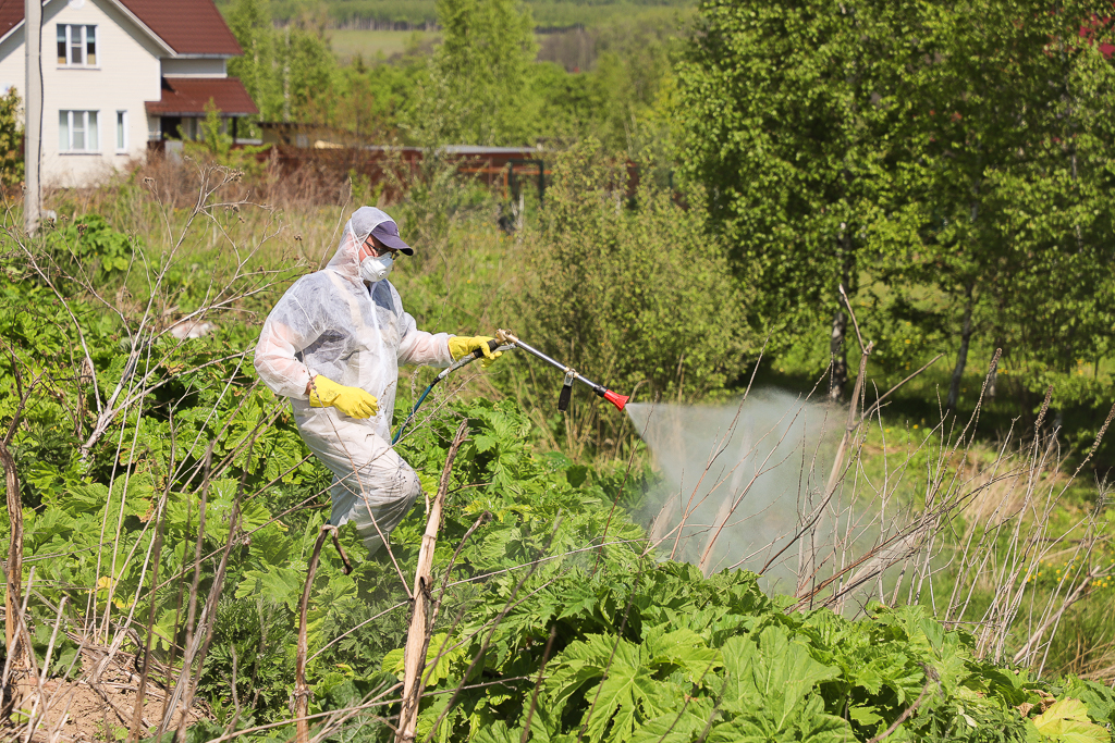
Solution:
<path fill-rule="evenodd" d="M 491 338 L 427 333 L 403 310 L 389 281 L 395 257 L 414 255 L 395 222 L 361 206 L 337 254 L 279 300 L 260 332 L 255 370 L 290 398 L 302 439 L 333 473 L 329 522 L 355 522 L 376 553 L 414 505 L 421 485 L 391 448 L 399 364 L 448 366 Z"/>

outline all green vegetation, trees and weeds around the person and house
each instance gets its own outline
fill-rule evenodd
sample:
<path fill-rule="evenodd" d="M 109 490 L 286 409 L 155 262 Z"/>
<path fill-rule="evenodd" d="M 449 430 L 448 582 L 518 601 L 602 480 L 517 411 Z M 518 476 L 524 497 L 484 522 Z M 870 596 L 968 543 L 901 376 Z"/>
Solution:
<path fill-rule="evenodd" d="M 260 120 L 541 146 L 550 185 L 501 229 L 508 194 L 436 157 L 391 188 L 283 172 L 212 111 L 184 163 L 50 193 L 29 237 L 9 92 L 12 730 L 61 731 L 74 690 L 112 681 L 127 702 L 88 737 L 387 740 L 425 629 L 424 739 L 1109 740 L 1109 8 L 221 9 Z M 362 203 L 419 248 L 392 281 L 421 327 L 510 325 L 640 401 L 832 405 L 789 595 L 669 559 L 633 427 L 583 390 L 558 413 L 560 380 L 515 354 L 399 444 L 433 497 L 467 420 L 429 626 L 408 627 L 426 508 L 380 559 L 342 530 L 351 573 L 321 550 L 328 473 L 251 349 Z M 433 375 L 407 373 L 396 421 Z"/>

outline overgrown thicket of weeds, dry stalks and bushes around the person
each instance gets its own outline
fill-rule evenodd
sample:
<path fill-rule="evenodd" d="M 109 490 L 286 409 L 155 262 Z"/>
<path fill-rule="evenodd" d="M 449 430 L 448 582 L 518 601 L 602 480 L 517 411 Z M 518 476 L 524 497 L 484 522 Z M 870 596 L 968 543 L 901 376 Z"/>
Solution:
<path fill-rule="evenodd" d="M 419 326 L 510 325 L 647 399 L 736 389 L 762 339 L 740 331 L 748 290 L 725 278 L 700 209 L 650 188 L 629 198 L 591 147 L 566 156 L 555 184 L 537 222 L 512 236 L 493 226 L 485 190 L 446 173 L 424 174 L 388 205 L 404 234 L 420 236 L 420 257 L 392 276 Z M 143 658 L 149 643 L 137 667 L 151 683 L 207 702 L 202 740 L 290 721 L 299 604 L 329 478 L 249 354 L 280 293 L 332 254 L 349 195 L 314 174 L 269 168 L 245 182 L 155 162 L 54 195 L 59 222 L 39 238 L 18 232 L 17 211 L 6 217 L 0 413 L 35 567 L 8 590 L 30 596 L 30 651 L 72 678 L 88 644 Z M 172 332 L 200 323 L 214 332 Z M 835 741 L 898 725 L 908 740 L 1068 740 L 1057 737 L 1066 718 L 1092 735 L 1115 723 L 1109 691 L 1058 677 L 1111 680 L 1104 490 L 1063 495 L 1072 470 L 1044 431 L 997 453 L 906 426 L 901 411 L 873 413 L 850 447 L 838 502 L 881 538 L 912 535 L 913 547 L 878 580 L 850 586 L 845 574 L 832 593 L 767 597 L 749 574 L 706 579 L 659 564 L 628 515 L 655 479 L 630 428 L 583 391 L 572 414 L 555 414 L 561 380 L 507 356 L 489 374 L 450 379 L 399 444 L 433 491 L 453 431 L 469 421 L 435 553 L 421 734 Z M 400 385 L 418 390 L 430 373 Z M 411 401 L 400 394 L 397 413 Z M 931 512 L 932 493 L 949 509 Z M 893 506 L 886 520 L 872 511 L 879 498 Z M 331 547 L 321 554 L 307 623 L 320 732 L 390 736 L 404 580 L 424 522 L 419 504 L 377 559 L 361 559 L 342 529 L 351 574 Z M 846 544 L 842 559 L 861 546 Z M 830 556 L 811 559 L 818 575 L 830 569 Z M 894 589 L 906 567 L 924 589 Z M 973 589 L 967 600 L 948 596 L 958 585 Z M 867 602 L 879 588 L 888 606 Z M 816 608 L 826 606 L 847 618 Z M 59 607 L 68 634 L 50 647 Z M 1011 669 L 1017 653 L 1025 668 Z M 50 700 L 39 704 L 32 727 L 49 722 Z"/>

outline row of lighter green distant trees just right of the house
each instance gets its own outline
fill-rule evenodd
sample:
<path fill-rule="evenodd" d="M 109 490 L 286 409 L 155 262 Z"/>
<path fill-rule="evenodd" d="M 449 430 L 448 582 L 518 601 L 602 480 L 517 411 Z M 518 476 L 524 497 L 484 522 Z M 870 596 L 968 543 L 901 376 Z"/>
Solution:
<path fill-rule="evenodd" d="M 277 28 L 281 8 L 234 0 L 225 16 L 244 55 L 243 80 L 261 120 L 322 124 L 380 144 L 554 145 L 595 137 L 634 156 L 652 148 L 646 126 L 669 72 L 676 27 L 661 19 L 602 29 L 595 68 L 536 62 L 530 9 L 517 0 L 440 0 L 440 43 L 400 58 L 341 65 L 321 18 Z"/>

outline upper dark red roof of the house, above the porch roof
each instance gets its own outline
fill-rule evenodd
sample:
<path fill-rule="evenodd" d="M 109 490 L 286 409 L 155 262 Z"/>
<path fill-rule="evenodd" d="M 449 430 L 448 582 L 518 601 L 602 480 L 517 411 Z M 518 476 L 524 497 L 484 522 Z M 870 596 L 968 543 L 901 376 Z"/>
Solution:
<path fill-rule="evenodd" d="M 178 55 L 243 53 L 213 0 L 116 0 Z M 0 0 L 0 37 L 23 20 L 23 0 Z M 43 37 L 46 38 L 46 37 Z"/>

